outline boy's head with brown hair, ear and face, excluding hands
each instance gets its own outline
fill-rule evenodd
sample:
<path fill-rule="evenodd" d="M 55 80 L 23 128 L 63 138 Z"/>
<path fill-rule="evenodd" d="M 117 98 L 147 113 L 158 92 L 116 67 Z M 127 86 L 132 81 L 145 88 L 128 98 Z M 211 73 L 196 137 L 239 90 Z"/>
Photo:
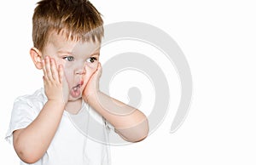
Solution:
<path fill-rule="evenodd" d="M 33 14 L 30 54 L 38 69 L 46 55 L 64 66 L 69 100 L 81 91 L 96 71 L 103 36 L 101 14 L 87 0 L 42 0 Z"/>

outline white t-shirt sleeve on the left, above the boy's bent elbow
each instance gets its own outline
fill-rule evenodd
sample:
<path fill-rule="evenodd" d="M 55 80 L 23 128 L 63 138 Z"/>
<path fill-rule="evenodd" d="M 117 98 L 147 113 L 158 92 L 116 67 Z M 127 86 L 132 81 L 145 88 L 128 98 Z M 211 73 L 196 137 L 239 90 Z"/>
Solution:
<path fill-rule="evenodd" d="M 37 114 L 28 100 L 24 98 L 16 99 L 5 139 L 10 144 L 13 144 L 13 132 L 20 128 L 26 128 L 36 117 Z"/>

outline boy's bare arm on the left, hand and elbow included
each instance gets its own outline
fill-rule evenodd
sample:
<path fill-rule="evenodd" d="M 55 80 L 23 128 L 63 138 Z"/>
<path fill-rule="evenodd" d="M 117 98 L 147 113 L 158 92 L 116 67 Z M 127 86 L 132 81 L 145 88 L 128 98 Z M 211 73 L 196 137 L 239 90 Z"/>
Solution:
<path fill-rule="evenodd" d="M 48 101 L 31 124 L 13 133 L 15 151 L 20 159 L 26 163 L 37 162 L 44 156 L 61 122 L 67 102 L 67 92 L 62 91 L 63 84 L 66 84 L 66 79 L 62 81 L 62 66 L 58 70 L 55 61 L 49 57 L 46 57 L 42 64 L 44 90 Z"/>

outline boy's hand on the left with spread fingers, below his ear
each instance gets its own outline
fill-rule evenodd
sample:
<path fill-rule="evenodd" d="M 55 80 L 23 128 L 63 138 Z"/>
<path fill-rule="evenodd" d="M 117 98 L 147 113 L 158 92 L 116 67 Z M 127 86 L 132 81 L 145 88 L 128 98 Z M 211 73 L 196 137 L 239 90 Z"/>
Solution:
<path fill-rule="evenodd" d="M 44 90 L 48 100 L 55 100 L 67 104 L 68 85 L 64 76 L 63 66 L 57 68 L 55 60 L 46 56 L 42 61 L 44 71 Z"/>

